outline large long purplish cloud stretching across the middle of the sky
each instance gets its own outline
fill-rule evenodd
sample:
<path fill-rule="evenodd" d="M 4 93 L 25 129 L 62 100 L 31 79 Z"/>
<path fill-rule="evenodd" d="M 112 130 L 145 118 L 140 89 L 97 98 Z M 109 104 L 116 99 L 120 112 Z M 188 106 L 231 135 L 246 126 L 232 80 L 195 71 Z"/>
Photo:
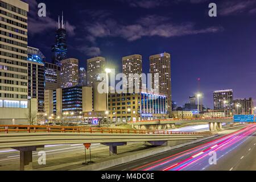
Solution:
<path fill-rule="evenodd" d="M 175 36 L 215 33 L 222 27 L 196 28 L 195 23 L 175 24 L 164 16 L 148 15 L 138 19 L 133 24 L 118 23 L 114 19 L 86 24 L 88 40 L 95 42 L 97 38 L 119 37 L 129 42 L 143 37 L 159 36 L 171 38 Z"/>

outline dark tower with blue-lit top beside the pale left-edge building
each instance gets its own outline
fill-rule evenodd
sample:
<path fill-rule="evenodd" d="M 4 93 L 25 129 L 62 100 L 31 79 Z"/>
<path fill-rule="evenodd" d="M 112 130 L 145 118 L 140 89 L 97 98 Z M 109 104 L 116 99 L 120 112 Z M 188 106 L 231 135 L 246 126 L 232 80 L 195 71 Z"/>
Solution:
<path fill-rule="evenodd" d="M 38 112 L 44 113 L 44 55 L 39 49 L 28 48 L 28 98 L 36 98 Z"/>

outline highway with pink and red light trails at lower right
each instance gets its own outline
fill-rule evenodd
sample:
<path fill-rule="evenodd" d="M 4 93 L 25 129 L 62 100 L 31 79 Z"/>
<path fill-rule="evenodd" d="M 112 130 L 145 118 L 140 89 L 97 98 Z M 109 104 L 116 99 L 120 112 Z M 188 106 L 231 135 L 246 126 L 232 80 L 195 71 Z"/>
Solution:
<path fill-rule="evenodd" d="M 113 167 L 110 171 L 256 170 L 256 125 L 228 135 Z M 216 156 L 216 163 L 214 161 Z M 212 163 L 212 164 L 210 164 Z"/>

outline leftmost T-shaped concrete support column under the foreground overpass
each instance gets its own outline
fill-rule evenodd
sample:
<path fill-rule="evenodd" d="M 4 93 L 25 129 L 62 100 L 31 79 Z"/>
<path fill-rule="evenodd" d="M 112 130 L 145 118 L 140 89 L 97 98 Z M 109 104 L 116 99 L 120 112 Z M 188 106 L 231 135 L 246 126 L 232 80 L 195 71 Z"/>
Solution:
<path fill-rule="evenodd" d="M 27 171 L 33 168 L 32 162 L 32 151 L 36 151 L 37 148 L 44 148 L 44 146 L 31 146 L 31 147 L 17 147 L 14 148 L 18 150 L 20 153 L 19 157 L 19 170 L 20 171 Z"/>

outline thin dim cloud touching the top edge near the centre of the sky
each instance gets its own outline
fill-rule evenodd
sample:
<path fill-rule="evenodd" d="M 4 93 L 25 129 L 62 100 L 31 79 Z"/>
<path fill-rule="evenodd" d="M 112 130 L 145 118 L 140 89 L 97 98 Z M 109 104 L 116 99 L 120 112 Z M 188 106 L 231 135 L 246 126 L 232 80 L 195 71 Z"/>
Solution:
<path fill-rule="evenodd" d="M 141 7 L 144 9 L 152 9 L 159 6 L 167 5 L 166 0 L 118 0 L 124 3 L 128 3 L 131 7 Z"/>

